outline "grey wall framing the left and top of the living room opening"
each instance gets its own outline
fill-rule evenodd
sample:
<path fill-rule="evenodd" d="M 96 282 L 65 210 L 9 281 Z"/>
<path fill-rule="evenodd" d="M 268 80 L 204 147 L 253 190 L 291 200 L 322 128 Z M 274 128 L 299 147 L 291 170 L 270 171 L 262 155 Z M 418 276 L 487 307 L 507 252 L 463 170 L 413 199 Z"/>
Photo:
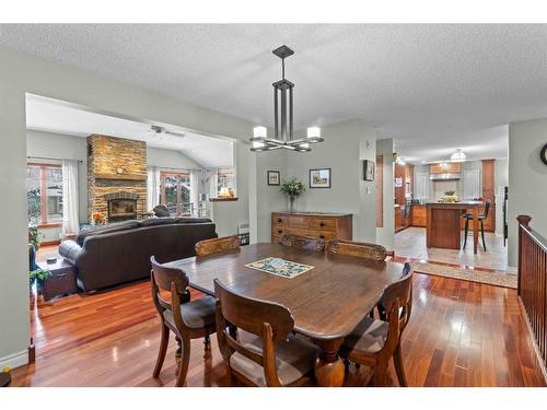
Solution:
<path fill-rule="evenodd" d="M 25 93 L 59 98 L 126 115 L 235 139 L 253 125 L 139 86 L 0 46 L 0 366 L 26 362 L 28 270 L 26 222 Z M 8 269 L 9 267 L 9 269 Z"/>

